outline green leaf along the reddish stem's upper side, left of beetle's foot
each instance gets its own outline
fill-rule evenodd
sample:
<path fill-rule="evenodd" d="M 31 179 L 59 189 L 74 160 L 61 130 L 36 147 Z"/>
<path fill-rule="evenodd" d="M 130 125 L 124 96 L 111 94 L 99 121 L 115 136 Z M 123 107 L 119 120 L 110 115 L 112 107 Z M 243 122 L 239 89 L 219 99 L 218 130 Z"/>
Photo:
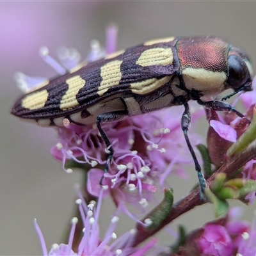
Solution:
<path fill-rule="evenodd" d="M 173 191 L 172 189 L 164 189 L 164 199 L 153 209 L 146 220 L 149 220 L 151 223 L 146 227 L 148 230 L 156 229 L 162 221 L 166 218 L 170 211 L 172 210 L 173 205 Z"/>

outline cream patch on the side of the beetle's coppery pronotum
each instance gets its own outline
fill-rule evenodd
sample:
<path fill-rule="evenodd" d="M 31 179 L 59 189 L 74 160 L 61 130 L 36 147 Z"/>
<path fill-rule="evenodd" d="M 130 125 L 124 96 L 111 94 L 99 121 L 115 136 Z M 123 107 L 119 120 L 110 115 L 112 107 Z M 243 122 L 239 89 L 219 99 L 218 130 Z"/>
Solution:
<path fill-rule="evenodd" d="M 225 72 L 216 72 L 204 68 L 185 68 L 182 77 L 188 90 L 198 90 L 204 95 L 216 95 L 225 90 L 227 79 Z"/>

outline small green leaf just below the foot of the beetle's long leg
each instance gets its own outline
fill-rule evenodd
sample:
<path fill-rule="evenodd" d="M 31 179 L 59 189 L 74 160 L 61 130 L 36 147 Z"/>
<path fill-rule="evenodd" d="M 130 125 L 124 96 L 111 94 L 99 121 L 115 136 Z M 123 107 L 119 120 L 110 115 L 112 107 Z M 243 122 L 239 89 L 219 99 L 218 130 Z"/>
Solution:
<path fill-rule="evenodd" d="M 205 196 L 207 196 L 207 199 L 212 202 L 216 218 L 219 218 L 228 212 L 229 206 L 227 200 L 221 200 L 214 195 L 209 188 L 205 188 Z"/>

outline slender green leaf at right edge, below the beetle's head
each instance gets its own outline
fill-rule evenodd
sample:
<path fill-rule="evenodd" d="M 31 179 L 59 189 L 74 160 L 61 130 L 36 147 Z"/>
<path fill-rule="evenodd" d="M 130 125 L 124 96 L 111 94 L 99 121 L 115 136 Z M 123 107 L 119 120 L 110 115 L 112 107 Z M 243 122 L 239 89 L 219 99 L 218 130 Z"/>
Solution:
<path fill-rule="evenodd" d="M 248 129 L 241 135 L 241 137 L 228 148 L 227 156 L 232 156 L 235 153 L 243 152 L 243 150 L 256 140 L 256 115 L 253 113 L 252 122 Z"/>

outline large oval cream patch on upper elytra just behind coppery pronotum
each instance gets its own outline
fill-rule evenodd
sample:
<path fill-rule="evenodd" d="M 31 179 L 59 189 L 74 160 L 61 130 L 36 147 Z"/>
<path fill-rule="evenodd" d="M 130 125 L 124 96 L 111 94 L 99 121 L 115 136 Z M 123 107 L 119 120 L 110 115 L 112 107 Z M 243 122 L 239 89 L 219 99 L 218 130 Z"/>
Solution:
<path fill-rule="evenodd" d="M 173 62 L 173 52 L 171 48 L 157 47 L 148 49 L 141 53 L 140 58 L 136 64 L 141 67 L 148 67 L 152 65 L 170 65 Z"/>

